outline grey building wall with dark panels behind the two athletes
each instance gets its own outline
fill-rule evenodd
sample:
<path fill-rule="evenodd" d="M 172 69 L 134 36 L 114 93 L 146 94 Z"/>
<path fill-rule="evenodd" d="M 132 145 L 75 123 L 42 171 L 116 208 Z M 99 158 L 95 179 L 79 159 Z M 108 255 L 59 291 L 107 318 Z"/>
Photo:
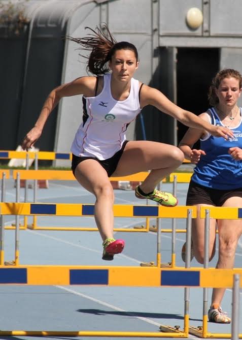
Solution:
<path fill-rule="evenodd" d="M 196 29 L 191 29 L 186 22 L 187 12 L 193 7 L 203 14 L 203 22 Z M 0 125 L 2 131 L 10 134 L 11 127 L 16 128 L 9 148 L 15 148 L 23 131 L 37 119 L 45 97 L 54 86 L 87 74 L 78 46 L 64 40 L 64 36 L 83 37 L 88 33 L 86 26 L 94 28 L 106 22 L 118 41 L 127 40 L 136 45 L 140 66 L 135 77 L 162 90 L 180 105 L 181 89 L 187 82 L 190 97 L 200 95 L 199 84 L 205 96 L 212 74 L 219 69 L 231 67 L 242 72 L 241 9 L 241 0 L 29 0 L 25 6 L 29 30 L 19 39 L 15 37 L 16 42 L 6 40 L 0 24 L 0 48 L 2 51 L 4 48 L 0 71 L 7 80 L 8 75 L 11 76 L 15 84 L 8 83 L 9 91 L 5 91 L 7 86 L 2 86 L 3 98 L 0 98 L 12 117 L 12 122 Z M 14 65 L 14 72 L 8 73 L 8 65 L 14 63 L 13 53 L 18 51 L 21 56 L 18 65 Z M 205 68 L 207 71 L 212 68 L 206 79 Z M 38 89 L 34 89 L 36 84 Z M 9 106 L 5 92 L 14 98 Z M 188 96 L 184 108 L 189 108 L 189 102 Z M 239 104 L 242 105 L 242 98 Z M 194 112 L 200 113 L 201 106 L 194 107 Z M 16 118 L 19 110 L 23 114 Z M 81 119 L 81 96 L 61 100 L 47 123 L 40 148 L 70 152 Z M 144 110 L 144 119 L 147 139 L 177 143 L 174 119 L 152 107 Z M 127 138 L 143 138 L 140 118 L 129 126 Z M 56 164 L 66 165 L 66 162 Z"/>

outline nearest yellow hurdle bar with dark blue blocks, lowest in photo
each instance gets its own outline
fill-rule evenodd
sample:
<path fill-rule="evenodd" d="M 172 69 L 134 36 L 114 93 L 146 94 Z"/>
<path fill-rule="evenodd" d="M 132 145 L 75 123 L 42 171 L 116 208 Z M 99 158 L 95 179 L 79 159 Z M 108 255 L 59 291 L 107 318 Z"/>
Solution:
<path fill-rule="evenodd" d="M 232 288 L 234 274 L 242 268 L 1 265 L 0 285 Z"/>

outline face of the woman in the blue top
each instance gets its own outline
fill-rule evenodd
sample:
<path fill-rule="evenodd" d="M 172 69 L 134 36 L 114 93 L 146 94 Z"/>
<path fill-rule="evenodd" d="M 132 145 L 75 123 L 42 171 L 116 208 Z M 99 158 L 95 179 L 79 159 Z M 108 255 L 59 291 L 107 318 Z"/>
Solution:
<path fill-rule="evenodd" d="M 239 81 L 236 78 L 224 78 L 216 89 L 216 95 L 219 98 L 219 103 L 226 106 L 234 106 L 240 96 L 241 88 Z"/>

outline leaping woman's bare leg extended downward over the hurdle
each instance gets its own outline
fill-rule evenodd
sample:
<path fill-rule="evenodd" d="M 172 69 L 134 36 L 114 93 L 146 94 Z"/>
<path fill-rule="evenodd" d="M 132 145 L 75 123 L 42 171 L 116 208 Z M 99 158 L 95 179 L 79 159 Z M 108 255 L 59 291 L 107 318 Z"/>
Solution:
<path fill-rule="evenodd" d="M 94 217 L 101 238 L 113 238 L 114 193 L 105 169 L 95 160 L 85 160 L 75 170 L 78 182 L 95 195 Z"/>

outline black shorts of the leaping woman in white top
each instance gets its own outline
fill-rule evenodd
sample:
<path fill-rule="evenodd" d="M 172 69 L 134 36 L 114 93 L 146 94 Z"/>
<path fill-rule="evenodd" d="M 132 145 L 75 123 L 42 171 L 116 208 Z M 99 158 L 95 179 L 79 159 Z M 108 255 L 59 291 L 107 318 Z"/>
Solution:
<path fill-rule="evenodd" d="M 74 176 L 75 176 L 76 167 L 78 166 L 79 163 L 85 160 L 95 160 L 98 163 L 100 163 L 100 165 L 107 171 L 108 176 L 111 177 L 118 166 L 119 160 L 122 156 L 123 150 L 127 143 L 128 143 L 128 140 L 125 140 L 123 142 L 122 148 L 119 151 L 117 151 L 113 157 L 107 160 L 103 160 L 103 161 L 98 160 L 96 157 L 78 157 L 78 156 L 75 156 L 75 154 L 73 154 L 72 155 L 72 172 Z"/>

